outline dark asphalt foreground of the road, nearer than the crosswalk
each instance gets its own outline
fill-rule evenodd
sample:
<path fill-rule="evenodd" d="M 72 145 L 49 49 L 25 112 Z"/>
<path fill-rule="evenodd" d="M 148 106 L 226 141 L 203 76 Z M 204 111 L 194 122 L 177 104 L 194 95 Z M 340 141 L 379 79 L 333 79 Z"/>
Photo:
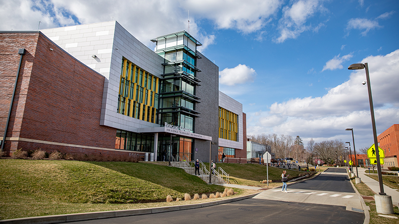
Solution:
<path fill-rule="evenodd" d="M 355 224 L 364 215 L 341 206 L 247 199 L 168 213 L 76 222 L 74 224 Z"/>

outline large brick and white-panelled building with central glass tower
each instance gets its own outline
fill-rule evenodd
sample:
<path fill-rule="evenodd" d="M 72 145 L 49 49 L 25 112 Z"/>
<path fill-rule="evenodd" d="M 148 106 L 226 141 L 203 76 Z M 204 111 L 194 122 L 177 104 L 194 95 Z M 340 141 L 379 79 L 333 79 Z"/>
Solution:
<path fill-rule="evenodd" d="M 116 21 L 0 38 L 0 140 L 8 153 L 147 152 L 207 162 L 224 152 L 246 160 L 242 105 L 218 91 L 217 65 L 186 31 L 152 39 L 155 51 Z"/>

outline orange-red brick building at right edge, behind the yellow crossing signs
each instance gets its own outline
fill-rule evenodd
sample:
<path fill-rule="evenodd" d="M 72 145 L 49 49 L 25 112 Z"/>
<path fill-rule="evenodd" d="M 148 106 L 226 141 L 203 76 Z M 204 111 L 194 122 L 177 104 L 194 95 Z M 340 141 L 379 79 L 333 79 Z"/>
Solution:
<path fill-rule="evenodd" d="M 384 150 L 384 166 L 399 167 L 399 124 L 394 124 L 377 137 L 379 147 Z"/>

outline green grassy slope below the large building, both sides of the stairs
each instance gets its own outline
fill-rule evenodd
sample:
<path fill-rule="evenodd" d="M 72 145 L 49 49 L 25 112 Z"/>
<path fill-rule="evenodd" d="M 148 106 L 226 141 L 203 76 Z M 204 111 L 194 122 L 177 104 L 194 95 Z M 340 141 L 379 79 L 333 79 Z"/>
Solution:
<path fill-rule="evenodd" d="M 0 159 L 0 220 L 167 206 L 167 195 L 176 199 L 185 193 L 224 190 L 183 169 L 160 164 Z M 265 166 L 217 165 L 233 183 L 253 185 L 266 179 Z M 269 167 L 269 179 L 281 179 L 281 172 Z"/>

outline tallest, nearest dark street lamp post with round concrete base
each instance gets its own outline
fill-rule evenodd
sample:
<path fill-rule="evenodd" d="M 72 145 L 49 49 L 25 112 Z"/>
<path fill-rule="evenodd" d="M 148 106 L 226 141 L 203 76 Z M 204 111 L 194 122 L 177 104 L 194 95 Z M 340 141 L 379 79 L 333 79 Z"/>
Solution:
<path fill-rule="evenodd" d="M 368 63 L 352 64 L 348 67 L 348 69 L 349 70 L 366 69 L 367 90 L 369 92 L 371 122 L 373 125 L 374 147 L 376 148 L 376 151 L 378 152 L 379 149 L 378 149 L 378 140 L 377 140 L 377 128 L 376 128 L 376 119 L 374 116 L 373 97 L 371 94 L 369 65 L 368 65 Z M 379 193 L 379 195 L 375 195 L 375 196 L 377 196 L 377 197 L 375 197 L 377 212 L 384 213 L 384 214 L 393 214 L 394 209 L 392 207 L 392 197 L 388 196 L 386 193 L 384 193 L 383 176 L 381 173 L 380 153 L 376 153 L 376 160 L 377 160 L 378 182 L 380 183 L 380 193 Z M 379 197 L 379 196 L 381 196 L 381 197 Z M 384 196 L 386 196 L 386 198 Z M 383 204 L 385 204 L 385 205 L 383 205 Z"/>

